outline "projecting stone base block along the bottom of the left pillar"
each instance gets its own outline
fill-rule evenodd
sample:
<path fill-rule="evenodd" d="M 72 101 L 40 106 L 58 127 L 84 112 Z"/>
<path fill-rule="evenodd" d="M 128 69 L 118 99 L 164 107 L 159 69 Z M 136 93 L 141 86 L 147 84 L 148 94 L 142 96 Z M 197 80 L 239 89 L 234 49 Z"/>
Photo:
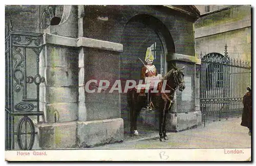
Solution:
<path fill-rule="evenodd" d="M 123 141 L 123 119 L 39 124 L 41 149 L 90 148 Z"/>

